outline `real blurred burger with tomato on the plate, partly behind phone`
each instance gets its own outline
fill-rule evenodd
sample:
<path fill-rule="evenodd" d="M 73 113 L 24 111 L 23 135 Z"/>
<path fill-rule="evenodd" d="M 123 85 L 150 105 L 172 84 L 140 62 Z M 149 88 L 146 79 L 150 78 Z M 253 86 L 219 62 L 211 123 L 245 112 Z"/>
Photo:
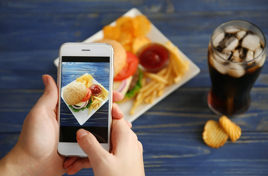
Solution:
<path fill-rule="evenodd" d="M 114 48 L 114 90 L 125 95 L 125 98 L 133 98 L 141 88 L 142 71 L 138 68 L 139 59 L 117 41 L 103 39 L 98 43 L 111 44 Z"/>

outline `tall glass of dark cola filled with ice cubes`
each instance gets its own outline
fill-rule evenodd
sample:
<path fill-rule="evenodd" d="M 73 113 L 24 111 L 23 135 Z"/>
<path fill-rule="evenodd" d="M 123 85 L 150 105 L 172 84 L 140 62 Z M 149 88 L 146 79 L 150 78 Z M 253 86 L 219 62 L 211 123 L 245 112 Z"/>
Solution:
<path fill-rule="evenodd" d="M 266 44 L 263 32 L 250 22 L 233 20 L 214 30 L 208 47 L 212 112 L 234 115 L 249 109 L 250 90 L 266 60 Z"/>

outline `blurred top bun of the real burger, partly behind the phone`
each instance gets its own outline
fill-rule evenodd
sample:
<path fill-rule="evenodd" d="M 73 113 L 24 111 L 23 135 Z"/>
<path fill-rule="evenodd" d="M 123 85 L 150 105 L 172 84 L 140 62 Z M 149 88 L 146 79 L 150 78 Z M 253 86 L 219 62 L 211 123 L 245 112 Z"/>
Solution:
<path fill-rule="evenodd" d="M 114 48 L 114 65 L 115 65 L 115 76 L 123 69 L 127 62 L 127 53 L 125 48 L 119 42 L 111 39 L 102 39 L 96 41 L 96 43 L 107 43 L 111 44 Z"/>

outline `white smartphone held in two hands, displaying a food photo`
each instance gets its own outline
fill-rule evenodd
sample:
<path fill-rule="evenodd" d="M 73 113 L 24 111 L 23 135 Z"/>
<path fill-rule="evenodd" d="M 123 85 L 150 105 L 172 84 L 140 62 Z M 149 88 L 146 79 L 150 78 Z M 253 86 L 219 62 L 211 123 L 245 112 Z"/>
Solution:
<path fill-rule="evenodd" d="M 77 130 L 95 135 L 110 150 L 114 49 L 102 43 L 65 43 L 59 49 L 57 151 L 64 156 L 87 155 L 77 143 Z"/>

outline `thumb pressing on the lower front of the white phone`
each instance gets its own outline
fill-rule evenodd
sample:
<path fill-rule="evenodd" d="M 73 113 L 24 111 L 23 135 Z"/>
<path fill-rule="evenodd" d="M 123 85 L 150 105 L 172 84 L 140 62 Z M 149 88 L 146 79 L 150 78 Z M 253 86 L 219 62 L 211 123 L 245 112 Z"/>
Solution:
<path fill-rule="evenodd" d="M 93 167 L 95 164 L 98 164 L 98 161 L 102 159 L 106 154 L 109 154 L 99 144 L 96 137 L 84 129 L 77 131 L 77 142 L 84 153 L 88 155 L 90 163 Z"/>

